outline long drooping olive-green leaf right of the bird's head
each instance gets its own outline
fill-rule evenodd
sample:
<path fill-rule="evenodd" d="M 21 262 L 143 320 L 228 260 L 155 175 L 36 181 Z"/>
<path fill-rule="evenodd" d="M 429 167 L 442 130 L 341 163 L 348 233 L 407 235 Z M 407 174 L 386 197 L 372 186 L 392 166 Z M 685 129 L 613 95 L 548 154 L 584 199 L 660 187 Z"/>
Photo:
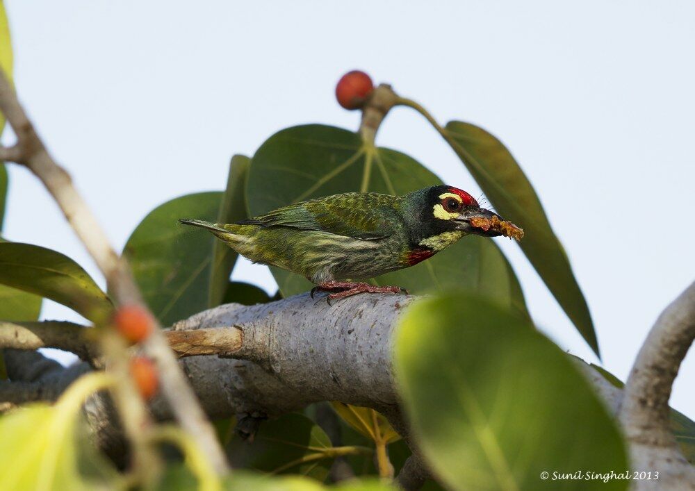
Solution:
<path fill-rule="evenodd" d="M 550 227 L 541 201 L 509 150 L 474 124 L 451 121 L 443 136 L 502 217 L 521 226 L 519 242 L 531 264 L 596 356 L 598 341 L 589 306 L 569 258 Z"/>

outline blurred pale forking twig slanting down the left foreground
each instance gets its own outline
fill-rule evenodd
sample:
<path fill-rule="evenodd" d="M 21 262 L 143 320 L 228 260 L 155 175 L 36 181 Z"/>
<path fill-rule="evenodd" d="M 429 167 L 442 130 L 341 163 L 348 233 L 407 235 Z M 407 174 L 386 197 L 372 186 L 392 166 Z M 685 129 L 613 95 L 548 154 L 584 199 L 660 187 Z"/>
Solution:
<path fill-rule="evenodd" d="M 19 149 L 19 152 L 14 155 L 13 161 L 30 169 L 54 197 L 60 209 L 63 210 L 65 218 L 106 277 L 106 282 L 117 303 L 143 306 L 140 292 L 125 260 L 120 258 L 109 244 L 106 234 L 97 223 L 97 219 L 87 203 L 72 185 L 70 176 L 49 155 L 1 70 L 0 110 L 17 135 L 15 147 Z M 10 152 L 10 149 L 5 150 L 6 153 Z M 219 474 L 226 473 L 228 471 L 227 460 L 224 458 L 222 449 L 220 449 L 215 437 L 215 431 L 200 408 L 193 389 L 188 385 L 186 376 L 181 371 L 177 358 L 169 349 L 163 335 L 155 330 L 145 342 L 144 349 L 147 355 L 157 363 L 163 394 L 170 403 L 179 424 L 190 433 L 191 438 L 197 441 L 215 471 Z M 110 351 L 113 356 L 122 357 L 123 360 L 127 359 L 124 349 L 103 346 L 102 351 L 105 353 Z M 108 361 L 108 365 L 112 369 L 122 366 L 120 359 Z M 134 449 L 140 458 L 154 460 L 154 453 L 149 450 L 150 446 L 142 431 L 142 428 L 149 426 L 145 405 L 142 401 L 133 403 L 133 401 L 124 400 L 123 398 L 136 394 L 136 388 L 126 373 L 117 373 L 115 376 L 118 383 L 114 391 L 114 398 L 123 419 L 126 433 L 131 438 Z M 128 412 L 124 412 L 126 408 L 128 408 Z M 139 465 L 142 464 L 139 463 Z"/>

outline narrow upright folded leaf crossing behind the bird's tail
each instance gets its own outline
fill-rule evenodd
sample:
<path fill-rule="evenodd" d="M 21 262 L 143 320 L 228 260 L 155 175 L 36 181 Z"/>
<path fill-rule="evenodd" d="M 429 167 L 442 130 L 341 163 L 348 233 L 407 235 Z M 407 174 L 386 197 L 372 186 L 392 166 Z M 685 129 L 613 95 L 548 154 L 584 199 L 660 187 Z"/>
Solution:
<path fill-rule="evenodd" d="M 251 159 L 235 155 L 229 163 L 227 190 L 224 192 L 216 220 L 218 224 L 234 224 L 247 218 L 246 199 L 244 197 L 246 176 Z M 238 254 L 221 240 L 213 242 L 213 267 L 210 273 L 210 300 L 208 307 L 215 307 L 223 302 L 231 270 Z M 238 302 L 242 303 L 242 302 Z"/>

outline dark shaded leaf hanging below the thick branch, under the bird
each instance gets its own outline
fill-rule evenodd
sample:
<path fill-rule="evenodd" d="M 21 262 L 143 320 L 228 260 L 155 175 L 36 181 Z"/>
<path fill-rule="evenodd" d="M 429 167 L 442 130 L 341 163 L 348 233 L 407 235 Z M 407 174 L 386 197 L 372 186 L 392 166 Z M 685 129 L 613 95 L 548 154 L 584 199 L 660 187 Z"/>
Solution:
<path fill-rule="evenodd" d="M 332 462 L 326 453 L 331 448 L 320 426 L 304 415 L 289 413 L 263 422 L 252 443 L 232 438 L 227 456 L 235 468 L 302 474 L 323 481 Z"/>

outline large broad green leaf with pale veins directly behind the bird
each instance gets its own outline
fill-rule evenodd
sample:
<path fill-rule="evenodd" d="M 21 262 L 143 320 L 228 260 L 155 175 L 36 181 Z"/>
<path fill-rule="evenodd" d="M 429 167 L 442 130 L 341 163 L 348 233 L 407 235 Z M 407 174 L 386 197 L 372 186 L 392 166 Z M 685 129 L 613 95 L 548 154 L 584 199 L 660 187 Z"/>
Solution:
<path fill-rule="evenodd" d="M 441 183 L 416 160 L 391 149 L 363 144 L 357 133 L 309 124 L 272 135 L 256 151 L 247 182 L 252 215 L 296 201 L 341 192 L 408 192 Z M 411 293 L 464 288 L 491 294 L 501 303 L 524 306 L 516 277 L 492 240 L 464 238 L 414 267 L 380 276 L 379 285 L 395 284 Z M 483 267 L 484 265 L 484 267 Z M 271 267 L 284 296 L 305 292 L 302 276 Z"/>

